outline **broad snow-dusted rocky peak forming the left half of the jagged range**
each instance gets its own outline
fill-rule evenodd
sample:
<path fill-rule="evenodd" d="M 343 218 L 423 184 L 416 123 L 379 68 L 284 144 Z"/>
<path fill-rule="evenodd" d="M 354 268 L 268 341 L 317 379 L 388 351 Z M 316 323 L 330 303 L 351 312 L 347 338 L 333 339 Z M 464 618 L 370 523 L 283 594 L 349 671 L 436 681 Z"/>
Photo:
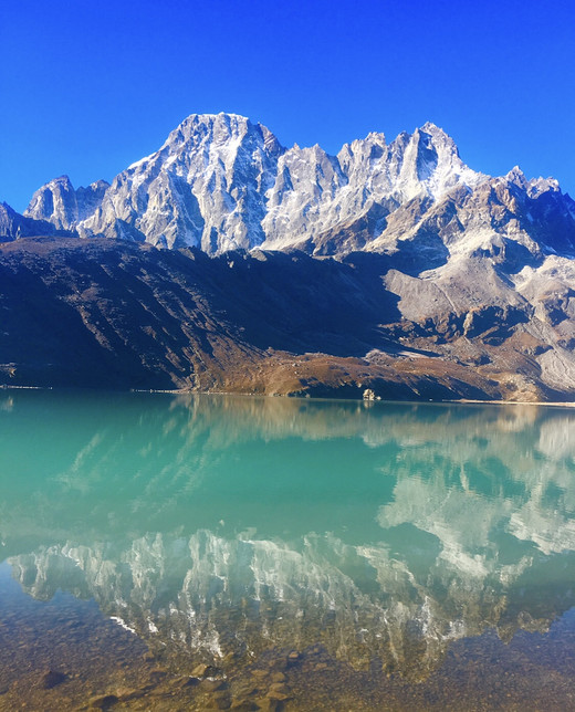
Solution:
<path fill-rule="evenodd" d="M 209 253 L 250 248 L 264 240 L 264 195 L 281 150 L 264 126 L 242 116 L 192 115 L 106 190 L 98 184 L 76 196 L 67 178 L 58 179 L 35 193 L 27 214 L 74 226 L 82 237 Z"/>

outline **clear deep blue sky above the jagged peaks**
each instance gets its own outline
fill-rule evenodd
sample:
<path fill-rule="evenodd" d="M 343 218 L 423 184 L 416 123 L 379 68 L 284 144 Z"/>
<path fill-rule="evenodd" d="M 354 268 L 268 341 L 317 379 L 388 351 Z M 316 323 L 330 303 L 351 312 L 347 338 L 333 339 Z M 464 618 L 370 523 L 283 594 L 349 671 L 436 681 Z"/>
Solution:
<path fill-rule="evenodd" d="M 0 200 L 18 210 L 220 111 L 331 153 L 432 121 L 472 168 L 519 164 L 575 196 L 575 2 L 0 2 Z"/>

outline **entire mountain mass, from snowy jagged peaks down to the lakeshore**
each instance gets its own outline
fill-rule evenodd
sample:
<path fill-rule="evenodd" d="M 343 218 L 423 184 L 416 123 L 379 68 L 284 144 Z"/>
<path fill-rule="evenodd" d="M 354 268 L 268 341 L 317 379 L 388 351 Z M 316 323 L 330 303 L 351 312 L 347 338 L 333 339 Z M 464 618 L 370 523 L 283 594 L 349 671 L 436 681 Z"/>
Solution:
<path fill-rule="evenodd" d="M 121 239 L 64 247 L 63 232 Z M 575 394 L 575 201 L 519 167 L 473 171 L 433 124 L 390 144 L 369 134 L 331 156 L 286 149 L 242 116 L 191 115 L 112 185 L 75 190 L 62 177 L 24 216 L 0 206 L 0 240 L 34 235 L 0 254 L 10 383 Z M 313 259 L 325 255 L 335 260 Z M 30 312 L 22 293 L 34 295 Z M 77 313 L 64 318 L 63 302 Z M 63 368 L 79 343 L 85 358 Z"/>

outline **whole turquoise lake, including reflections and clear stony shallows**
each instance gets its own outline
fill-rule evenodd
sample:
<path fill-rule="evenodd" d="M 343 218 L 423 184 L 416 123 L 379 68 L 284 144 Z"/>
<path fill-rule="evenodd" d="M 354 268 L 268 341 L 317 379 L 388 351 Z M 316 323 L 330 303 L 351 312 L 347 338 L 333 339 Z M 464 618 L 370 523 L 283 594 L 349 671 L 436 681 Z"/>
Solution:
<path fill-rule="evenodd" d="M 575 709 L 574 428 L 0 391 L 0 709 Z"/>

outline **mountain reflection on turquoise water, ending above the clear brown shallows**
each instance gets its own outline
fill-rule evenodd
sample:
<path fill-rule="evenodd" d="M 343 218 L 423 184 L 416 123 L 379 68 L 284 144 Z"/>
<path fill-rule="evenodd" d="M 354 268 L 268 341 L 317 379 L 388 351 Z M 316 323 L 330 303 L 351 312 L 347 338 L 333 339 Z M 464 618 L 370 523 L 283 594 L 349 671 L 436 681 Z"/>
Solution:
<path fill-rule="evenodd" d="M 0 559 L 34 598 L 93 597 L 175 658 L 321 642 L 422 680 L 451 641 L 545 631 L 575 604 L 574 425 L 536 406 L 7 391 Z"/>

